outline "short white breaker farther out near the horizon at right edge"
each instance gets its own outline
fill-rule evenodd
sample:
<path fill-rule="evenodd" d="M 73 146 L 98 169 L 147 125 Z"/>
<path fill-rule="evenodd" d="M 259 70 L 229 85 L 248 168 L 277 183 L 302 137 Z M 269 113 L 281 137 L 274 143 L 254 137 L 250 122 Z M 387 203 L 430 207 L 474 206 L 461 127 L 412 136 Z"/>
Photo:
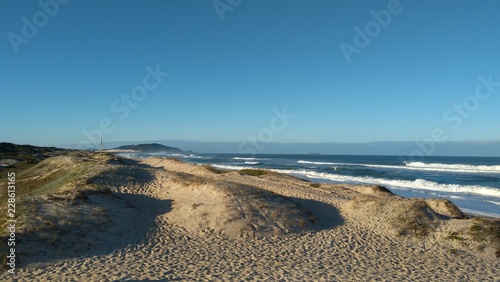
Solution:
<path fill-rule="evenodd" d="M 447 172 L 500 173 L 500 165 L 465 165 L 465 164 L 405 162 L 405 167 L 409 169 L 447 171 Z"/>

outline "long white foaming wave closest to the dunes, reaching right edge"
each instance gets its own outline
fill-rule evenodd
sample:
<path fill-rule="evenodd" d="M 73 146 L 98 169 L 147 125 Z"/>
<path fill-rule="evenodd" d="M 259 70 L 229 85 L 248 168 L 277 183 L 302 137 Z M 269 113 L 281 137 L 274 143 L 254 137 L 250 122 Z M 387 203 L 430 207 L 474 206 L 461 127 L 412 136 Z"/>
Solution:
<path fill-rule="evenodd" d="M 416 179 L 411 181 L 411 180 L 374 178 L 370 176 L 348 176 L 348 175 L 338 175 L 338 174 L 315 172 L 308 170 L 274 169 L 273 171 L 287 173 L 287 174 L 303 175 L 308 178 L 332 180 L 336 182 L 382 185 L 389 188 L 421 189 L 421 190 L 432 190 L 432 191 L 440 191 L 448 193 L 477 194 L 477 195 L 500 198 L 500 189 L 493 187 L 486 187 L 486 186 L 478 186 L 478 185 L 440 184 L 425 179 Z"/>

